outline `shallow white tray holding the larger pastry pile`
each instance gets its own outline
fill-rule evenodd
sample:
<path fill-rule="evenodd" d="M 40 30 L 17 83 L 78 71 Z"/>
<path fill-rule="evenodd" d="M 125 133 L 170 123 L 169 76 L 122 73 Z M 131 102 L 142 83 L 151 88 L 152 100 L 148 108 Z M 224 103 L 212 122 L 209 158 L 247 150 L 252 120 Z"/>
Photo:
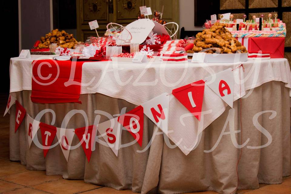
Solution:
<path fill-rule="evenodd" d="M 193 56 L 193 53 L 188 53 L 188 56 Z M 191 62 L 192 59 L 188 59 Z M 232 54 L 206 54 L 205 63 L 232 63 L 244 62 L 248 60 L 248 53 L 232 53 Z"/>

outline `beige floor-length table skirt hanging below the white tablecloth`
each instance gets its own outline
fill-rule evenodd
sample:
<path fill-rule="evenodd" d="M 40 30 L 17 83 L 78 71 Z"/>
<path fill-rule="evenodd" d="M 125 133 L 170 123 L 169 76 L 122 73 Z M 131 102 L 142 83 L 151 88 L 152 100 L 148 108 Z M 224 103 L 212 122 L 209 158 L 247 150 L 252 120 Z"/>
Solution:
<path fill-rule="evenodd" d="M 55 126 L 60 127 L 67 112 L 81 109 L 92 125 L 96 114 L 102 110 L 111 115 L 119 114 L 123 107 L 133 109 L 135 105 L 125 100 L 111 98 L 102 94 L 81 95 L 82 104 L 34 104 L 30 100 L 31 91 L 16 92 L 18 101 L 24 105 L 27 113 L 35 118 L 38 112 L 49 108 L 55 111 Z M 240 130 L 240 101 L 233 104 L 234 130 Z M 62 175 L 64 179 L 84 179 L 85 182 L 109 186 L 115 189 L 132 189 L 142 193 L 182 193 L 214 190 L 230 193 L 237 186 L 236 163 L 241 149 L 237 149 L 231 135 L 223 135 L 214 151 L 206 153 L 218 141 L 219 135 L 229 115 L 230 107 L 202 133 L 199 145 L 188 156 L 176 148 L 167 146 L 163 135 L 153 135 L 156 125 L 144 116 L 142 148 L 137 143 L 119 150 L 118 157 L 109 147 L 96 143 L 90 163 L 85 159 L 82 147 L 70 151 L 67 163 L 59 146 L 49 150 L 46 158 L 42 149 L 32 143 L 31 148 L 25 134 L 25 122 L 14 133 L 15 105 L 10 114 L 10 159 L 20 160 L 29 170 L 46 170 L 47 175 Z M 261 111 L 267 111 L 254 117 Z M 270 117 L 276 111 L 276 116 Z M 274 116 L 274 115 L 273 115 Z M 104 122 L 101 117 L 100 122 Z M 46 113 L 42 120 L 47 124 L 52 121 L 52 114 Z M 232 119 L 233 121 L 233 119 Z M 258 121 L 272 136 L 272 143 L 262 149 L 249 149 L 248 146 L 261 146 L 268 142 L 267 137 L 256 128 Z M 290 176 L 290 97 L 289 88 L 283 82 L 268 82 L 253 90 L 251 95 L 242 99 L 243 142 L 249 138 L 238 166 L 238 189 L 256 189 L 259 183 L 279 184 L 283 176 Z M 69 121 L 67 128 L 85 126 L 81 114 L 76 114 Z M 179 129 L 177 129 L 179 130 Z M 225 132 L 229 132 L 229 124 Z M 241 132 L 235 134 L 235 140 L 241 145 Z M 38 139 L 41 141 L 40 130 Z M 152 137 L 154 137 L 152 139 Z M 129 132 L 123 131 L 121 143 L 132 142 Z M 143 150 L 152 141 L 149 149 Z M 57 142 L 55 137 L 53 144 Z M 74 136 L 72 145 L 79 142 Z M 172 145 L 173 142 L 169 141 Z"/>

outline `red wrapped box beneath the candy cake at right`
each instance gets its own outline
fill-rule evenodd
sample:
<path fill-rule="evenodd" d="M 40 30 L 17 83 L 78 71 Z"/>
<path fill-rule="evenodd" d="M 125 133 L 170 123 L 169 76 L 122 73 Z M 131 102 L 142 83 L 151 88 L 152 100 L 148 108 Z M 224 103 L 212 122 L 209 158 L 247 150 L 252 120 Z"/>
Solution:
<path fill-rule="evenodd" d="M 284 58 L 284 37 L 249 38 L 248 52 L 269 52 L 272 58 Z"/>

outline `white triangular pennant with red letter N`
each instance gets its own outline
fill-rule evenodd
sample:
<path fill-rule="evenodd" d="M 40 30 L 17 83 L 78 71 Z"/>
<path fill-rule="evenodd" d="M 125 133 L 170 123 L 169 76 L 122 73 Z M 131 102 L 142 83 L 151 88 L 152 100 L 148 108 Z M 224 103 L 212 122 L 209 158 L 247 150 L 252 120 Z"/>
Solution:
<path fill-rule="evenodd" d="M 142 104 L 145 115 L 166 135 L 168 135 L 169 101 L 169 95 L 163 93 Z"/>

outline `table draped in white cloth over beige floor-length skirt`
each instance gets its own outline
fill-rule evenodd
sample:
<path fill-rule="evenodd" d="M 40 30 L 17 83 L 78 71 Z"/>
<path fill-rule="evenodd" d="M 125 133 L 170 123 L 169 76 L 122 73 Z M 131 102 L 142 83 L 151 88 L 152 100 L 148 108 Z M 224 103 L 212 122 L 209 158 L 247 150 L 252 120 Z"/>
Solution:
<path fill-rule="evenodd" d="M 56 115 L 52 125 L 57 127 L 73 109 L 84 111 L 88 120 L 75 114 L 67 120 L 68 129 L 92 125 L 96 110 L 117 116 L 125 111 L 124 107 L 131 110 L 164 92 L 171 94 L 172 89 L 228 68 L 234 74 L 234 102 L 231 109 L 205 86 L 203 117 L 199 122 L 169 95 L 168 135 L 144 115 L 142 147 L 137 143 L 126 146 L 134 139 L 123 131 L 117 157 L 109 147 L 96 143 L 90 162 L 81 146 L 70 151 L 68 162 L 59 146 L 50 149 L 45 158 L 43 150 L 33 143 L 29 148 L 25 122 L 14 131 L 15 106 L 12 106 L 10 159 L 20 160 L 27 169 L 142 193 L 205 190 L 231 193 L 235 189 L 256 189 L 259 183 L 279 184 L 283 176 L 291 174 L 291 72 L 287 59 L 176 64 L 85 62 L 79 98 L 82 104 L 39 104 L 30 99 L 32 61 L 36 58 L 32 55 L 32 59 L 11 59 L 10 94 L 32 118 L 44 109 L 52 109 Z M 241 64 L 244 72 L 237 68 Z M 51 124 L 52 120 L 52 114 L 46 113 L 41 122 Z M 106 120 L 101 115 L 100 122 Z M 41 141 L 40 130 L 37 137 Z M 55 137 L 53 144 L 57 141 Z M 78 143 L 75 135 L 72 145 Z"/>

